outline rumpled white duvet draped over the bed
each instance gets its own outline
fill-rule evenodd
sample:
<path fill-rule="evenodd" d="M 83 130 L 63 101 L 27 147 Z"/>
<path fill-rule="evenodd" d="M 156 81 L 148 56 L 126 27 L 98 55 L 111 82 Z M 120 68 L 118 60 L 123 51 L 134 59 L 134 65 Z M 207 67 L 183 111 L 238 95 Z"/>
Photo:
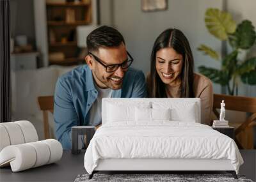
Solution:
<path fill-rule="evenodd" d="M 230 137 L 207 125 L 172 121 L 106 123 L 86 150 L 86 171 L 92 174 L 106 158 L 229 159 L 237 174 L 243 164 Z"/>

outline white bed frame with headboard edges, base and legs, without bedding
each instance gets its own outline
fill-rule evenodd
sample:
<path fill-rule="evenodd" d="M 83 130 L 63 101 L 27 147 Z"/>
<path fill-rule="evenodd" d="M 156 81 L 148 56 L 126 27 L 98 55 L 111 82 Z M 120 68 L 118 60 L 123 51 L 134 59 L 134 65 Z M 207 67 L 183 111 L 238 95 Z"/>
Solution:
<path fill-rule="evenodd" d="M 145 102 L 145 101 L 163 101 L 168 98 L 115 98 L 122 102 Z M 106 105 L 113 98 L 105 98 L 102 100 L 102 125 L 106 123 Z M 173 102 L 196 102 L 198 104 L 198 116 L 200 116 L 200 99 L 199 98 L 172 98 Z M 200 118 L 200 117 L 199 117 Z M 200 121 L 196 121 L 200 123 Z M 227 171 L 232 173 L 237 179 L 236 171 L 230 160 L 211 160 L 211 159 L 124 159 L 124 158 L 109 158 L 99 160 L 97 167 L 94 169 L 89 179 L 93 174 L 99 171 Z"/>

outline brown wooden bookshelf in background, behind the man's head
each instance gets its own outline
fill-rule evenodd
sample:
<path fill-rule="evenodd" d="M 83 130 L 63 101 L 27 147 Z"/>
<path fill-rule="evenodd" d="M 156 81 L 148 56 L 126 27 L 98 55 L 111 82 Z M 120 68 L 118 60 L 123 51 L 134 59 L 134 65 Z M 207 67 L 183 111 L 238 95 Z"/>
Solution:
<path fill-rule="evenodd" d="M 91 0 L 79 3 L 46 3 L 49 55 L 61 52 L 65 59 L 49 60 L 49 64 L 74 65 L 84 63 L 79 57 L 76 27 L 92 24 Z"/>

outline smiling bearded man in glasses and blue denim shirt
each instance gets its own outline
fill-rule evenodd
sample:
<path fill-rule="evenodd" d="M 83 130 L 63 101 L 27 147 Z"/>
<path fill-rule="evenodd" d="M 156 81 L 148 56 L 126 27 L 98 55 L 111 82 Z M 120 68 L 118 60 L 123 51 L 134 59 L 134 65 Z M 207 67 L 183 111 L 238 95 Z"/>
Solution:
<path fill-rule="evenodd" d="M 86 65 L 58 79 L 54 95 L 56 137 L 71 148 L 71 127 L 101 124 L 102 98 L 142 98 L 147 95 L 143 72 L 129 68 L 133 61 L 122 34 L 102 26 L 86 38 Z"/>

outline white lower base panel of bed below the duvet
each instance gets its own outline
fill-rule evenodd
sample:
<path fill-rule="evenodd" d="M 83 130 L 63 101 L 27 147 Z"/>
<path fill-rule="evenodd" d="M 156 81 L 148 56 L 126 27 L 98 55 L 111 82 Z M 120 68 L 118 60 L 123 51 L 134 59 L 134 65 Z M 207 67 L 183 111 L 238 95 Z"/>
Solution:
<path fill-rule="evenodd" d="M 124 159 L 99 160 L 95 171 L 234 171 L 230 160 Z"/>

